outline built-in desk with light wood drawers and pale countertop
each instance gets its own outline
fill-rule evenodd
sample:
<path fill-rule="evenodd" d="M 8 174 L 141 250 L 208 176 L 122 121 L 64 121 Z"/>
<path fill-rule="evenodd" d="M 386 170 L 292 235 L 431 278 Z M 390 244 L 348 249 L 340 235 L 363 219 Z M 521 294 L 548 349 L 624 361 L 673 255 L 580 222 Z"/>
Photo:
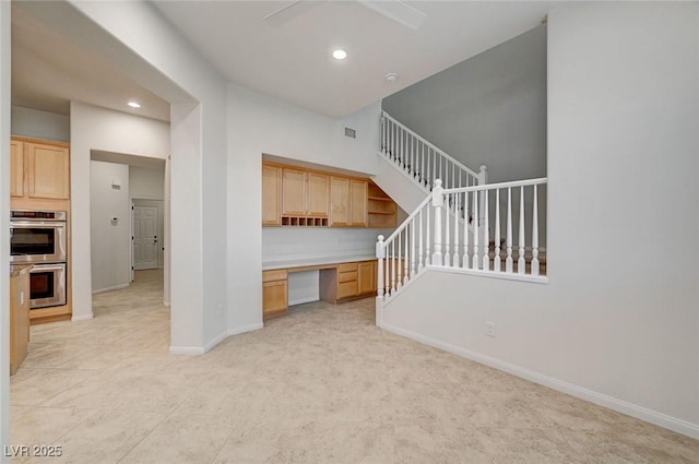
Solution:
<path fill-rule="evenodd" d="M 319 271 L 320 299 L 332 304 L 376 293 L 377 261 L 371 255 L 329 257 L 262 264 L 262 316 L 271 319 L 288 310 L 288 274 Z"/>

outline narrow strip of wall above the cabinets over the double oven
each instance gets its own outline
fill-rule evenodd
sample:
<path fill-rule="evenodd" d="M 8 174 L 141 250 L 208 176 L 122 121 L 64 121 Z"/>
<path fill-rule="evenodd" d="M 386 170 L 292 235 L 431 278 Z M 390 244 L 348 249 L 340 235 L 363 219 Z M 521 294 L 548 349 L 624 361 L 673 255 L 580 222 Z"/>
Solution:
<path fill-rule="evenodd" d="M 12 134 L 70 142 L 70 118 L 66 115 L 12 106 Z"/>

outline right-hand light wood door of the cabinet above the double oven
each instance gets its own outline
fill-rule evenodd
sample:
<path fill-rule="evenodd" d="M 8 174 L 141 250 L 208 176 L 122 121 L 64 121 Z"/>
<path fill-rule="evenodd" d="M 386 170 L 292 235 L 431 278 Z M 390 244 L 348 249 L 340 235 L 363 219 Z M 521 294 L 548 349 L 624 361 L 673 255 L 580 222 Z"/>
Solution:
<path fill-rule="evenodd" d="M 27 197 L 68 200 L 70 198 L 70 165 L 68 148 L 25 143 Z"/>

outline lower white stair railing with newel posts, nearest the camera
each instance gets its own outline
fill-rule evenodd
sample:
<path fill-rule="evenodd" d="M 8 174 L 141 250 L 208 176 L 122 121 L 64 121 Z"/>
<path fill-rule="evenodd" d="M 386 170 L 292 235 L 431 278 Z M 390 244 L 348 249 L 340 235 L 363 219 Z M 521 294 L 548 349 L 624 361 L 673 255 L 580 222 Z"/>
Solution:
<path fill-rule="evenodd" d="M 538 206 L 546 183 L 546 178 L 540 178 L 443 189 L 437 179 L 433 191 L 388 239 L 379 236 L 378 297 L 393 297 L 428 266 L 546 282 L 538 260 L 540 223 L 545 222 Z M 514 245 L 517 257 L 512 255 Z"/>

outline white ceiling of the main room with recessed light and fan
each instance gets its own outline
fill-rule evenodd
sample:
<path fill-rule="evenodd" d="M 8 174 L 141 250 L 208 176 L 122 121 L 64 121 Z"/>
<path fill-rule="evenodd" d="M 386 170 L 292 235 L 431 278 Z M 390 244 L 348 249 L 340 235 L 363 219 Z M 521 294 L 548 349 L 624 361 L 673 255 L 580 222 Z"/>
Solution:
<path fill-rule="evenodd" d="M 357 1 L 316 2 L 279 26 L 263 17 L 293 1 L 154 3 L 230 82 L 341 117 L 537 26 L 555 2 L 406 1 L 427 15 L 418 29 Z"/>

